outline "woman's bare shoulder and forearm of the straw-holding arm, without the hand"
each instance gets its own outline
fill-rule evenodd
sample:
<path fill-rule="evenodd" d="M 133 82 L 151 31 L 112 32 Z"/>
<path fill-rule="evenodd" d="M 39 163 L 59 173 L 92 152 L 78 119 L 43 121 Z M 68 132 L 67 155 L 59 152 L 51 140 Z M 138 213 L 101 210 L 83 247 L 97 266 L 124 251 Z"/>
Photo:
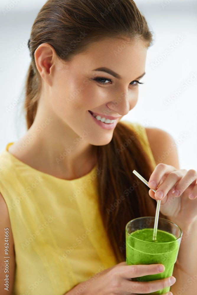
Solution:
<path fill-rule="evenodd" d="M 162 159 L 162 163 L 179 168 L 177 148 L 171 135 L 157 128 L 146 128 L 146 134 L 156 164 Z M 161 158 L 162 157 L 162 158 Z M 161 163 L 161 162 L 160 162 Z M 192 202 L 192 200 L 191 200 Z M 194 203 L 195 205 L 195 203 Z M 197 218 L 192 224 L 181 223 L 180 219 L 168 218 L 178 224 L 183 232 L 183 237 L 178 253 L 178 264 L 175 266 L 173 276 L 176 283 L 170 288 L 173 294 L 184 291 L 185 294 L 196 295 L 197 290 Z"/>

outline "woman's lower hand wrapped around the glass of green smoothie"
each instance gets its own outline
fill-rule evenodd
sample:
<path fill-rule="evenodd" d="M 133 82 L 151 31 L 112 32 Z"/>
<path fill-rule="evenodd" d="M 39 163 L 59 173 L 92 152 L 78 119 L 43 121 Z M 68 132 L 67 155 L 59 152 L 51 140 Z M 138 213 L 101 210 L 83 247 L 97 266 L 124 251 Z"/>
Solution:
<path fill-rule="evenodd" d="M 66 294 L 76 294 L 76 291 L 84 288 L 84 285 L 88 286 L 85 288 L 85 295 L 148 294 L 172 286 L 176 279 L 172 276 L 151 282 L 136 282 L 131 281 L 131 278 L 162 273 L 164 270 L 162 264 L 126 265 L 124 261 L 102 271 L 93 282 L 91 279 L 82 282 L 75 287 L 76 289 L 72 289 L 71 293 L 69 291 Z M 172 293 L 167 292 L 165 295 Z"/>

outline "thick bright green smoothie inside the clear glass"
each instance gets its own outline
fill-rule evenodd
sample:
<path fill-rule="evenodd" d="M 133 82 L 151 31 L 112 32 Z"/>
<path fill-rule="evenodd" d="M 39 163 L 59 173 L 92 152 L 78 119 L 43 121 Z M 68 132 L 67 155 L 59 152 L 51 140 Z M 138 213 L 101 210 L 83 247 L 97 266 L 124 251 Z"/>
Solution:
<path fill-rule="evenodd" d="M 154 281 L 172 276 L 179 250 L 176 237 L 163 230 L 157 230 L 156 241 L 153 241 L 152 237 L 152 228 L 136 230 L 128 235 L 126 238 L 126 263 L 127 265 L 161 263 L 165 266 L 165 271 L 155 275 L 133 278 L 132 281 Z M 165 294 L 168 291 L 170 291 L 170 287 L 149 294 Z"/>

